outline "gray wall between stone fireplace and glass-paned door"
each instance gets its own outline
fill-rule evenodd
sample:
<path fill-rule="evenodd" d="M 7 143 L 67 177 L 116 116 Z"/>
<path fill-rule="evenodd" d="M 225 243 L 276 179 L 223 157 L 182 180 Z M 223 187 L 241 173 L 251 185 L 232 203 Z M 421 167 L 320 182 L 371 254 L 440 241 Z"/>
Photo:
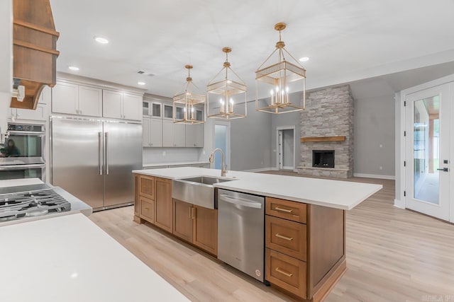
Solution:
<path fill-rule="evenodd" d="M 394 114 L 394 93 L 355 98 L 354 173 L 394 176 Z"/>

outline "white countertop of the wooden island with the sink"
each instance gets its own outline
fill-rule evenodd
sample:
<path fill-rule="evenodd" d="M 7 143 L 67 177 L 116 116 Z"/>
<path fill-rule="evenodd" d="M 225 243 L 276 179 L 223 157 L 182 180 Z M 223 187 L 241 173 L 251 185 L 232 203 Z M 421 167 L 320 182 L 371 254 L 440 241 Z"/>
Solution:
<path fill-rule="evenodd" d="M 134 170 L 133 173 L 151 175 L 160 178 L 178 179 L 196 176 L 221 175 L 221 170 L 183 167 L 153 170 Z M 316 204 L 323 207 L 350 210 L 382 189 L 382 185 L 341 180 L 323 180 L 319 178 L 301 178 L 296 176 L 271 175 L 263 173 L 228 171 L 226 178 L 236 178 L 229 182 L 220 182 L 215 187 L 258 194 L 268 197 Z"/>

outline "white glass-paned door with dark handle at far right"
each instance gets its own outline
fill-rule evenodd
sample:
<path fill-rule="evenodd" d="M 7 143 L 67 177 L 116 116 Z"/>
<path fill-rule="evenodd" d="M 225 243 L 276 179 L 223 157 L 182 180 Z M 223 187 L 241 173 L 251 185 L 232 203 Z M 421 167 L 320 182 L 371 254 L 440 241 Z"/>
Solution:
<path fill-rule="evenodd" d="M 450 84 L 406 95 L 406 208 L 450 220 Z M 453 219 L 453 217 L 451 217 Z"/>

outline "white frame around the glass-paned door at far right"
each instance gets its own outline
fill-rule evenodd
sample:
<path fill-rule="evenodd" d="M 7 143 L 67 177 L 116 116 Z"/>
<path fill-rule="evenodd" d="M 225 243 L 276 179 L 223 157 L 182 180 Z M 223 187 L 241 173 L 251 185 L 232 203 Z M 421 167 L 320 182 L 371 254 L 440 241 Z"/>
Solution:
<path fill-rule="evenodd" d="M 451 106 L 450 106 L 450 128 L 453 129 L 454 126 L 454 74 L 450 76 L 444 76 L 441 79 L 436 79 L 433 81 L 429 81 L 427 83 L 420 84 L 418 86 L 414 86 L 411 88 L 404 89 L 403 91 L 400 91 L 400 123 L 397 124 L 396 126 L 399 127 L 401 130 L 399 133 L 399 138 L 400 138 L 400 150 L 399 153 L 396 154 L 396 156 L 399 158 L 399 167 L 396 168 L 396 170 L 399 170 L 400 173 L 400 187 L 399 187 L 399 192 L 396 192 L 396 197 L 399 199 L 394 200 L 394 206 L 400 207 L 402 209 L 406 209 L 406 167 L 404 166 L 404 162 L 407 161 L 406 158 L 406 148 L 407 144 L 409 144 L 409 140 L 406 139 L 406 136 L 404 135 L 408 129 L 406 129 L 406 95 L 409 95 L 411 93 L 416 93 L 419 91 L 426 90 L 428 88 L 433 88 L 436 86 L 440 86 L 443 84 L 449 83 L 450 84 L 450 94 L 451 94 Z M 451 133 L 451 139 L 450 139 L 450 163 L 449 163 L 449 169 L 451 173 L 454 173 L 454 134 Z M 454 187 L 454 175 L 450 177 L 450 187 Z M 454 192 L 450 192 L 450 199 L 453 200 Z M 452 203 L 452 202 L 451 202 Z M 450 221 L 454 221 L 454 205 L 450 205 Z"/>

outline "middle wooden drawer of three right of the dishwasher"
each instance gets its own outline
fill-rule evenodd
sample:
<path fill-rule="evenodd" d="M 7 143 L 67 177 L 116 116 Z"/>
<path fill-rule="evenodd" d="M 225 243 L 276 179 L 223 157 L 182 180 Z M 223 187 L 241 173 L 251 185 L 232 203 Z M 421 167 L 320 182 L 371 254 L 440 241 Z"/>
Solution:
<path fill-rule="evenodd" d="M 265 216 L 267 248 L 306 261 L 306 225 L 273 216 Z"/>

